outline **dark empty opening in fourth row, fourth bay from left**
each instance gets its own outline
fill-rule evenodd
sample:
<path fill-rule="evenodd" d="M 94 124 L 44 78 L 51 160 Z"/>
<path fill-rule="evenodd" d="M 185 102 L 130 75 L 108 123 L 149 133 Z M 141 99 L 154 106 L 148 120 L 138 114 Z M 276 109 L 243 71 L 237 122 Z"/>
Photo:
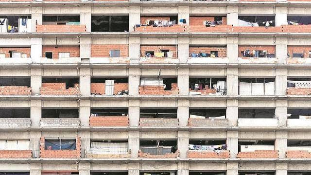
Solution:
<path fill-rule="evenodd" d="M 140 118 L 145 119 L 177 119 L 177 109 L 168 109 L 168 108 L 151 108 L 151 109 L 144 109 L 140 108 Z"/>

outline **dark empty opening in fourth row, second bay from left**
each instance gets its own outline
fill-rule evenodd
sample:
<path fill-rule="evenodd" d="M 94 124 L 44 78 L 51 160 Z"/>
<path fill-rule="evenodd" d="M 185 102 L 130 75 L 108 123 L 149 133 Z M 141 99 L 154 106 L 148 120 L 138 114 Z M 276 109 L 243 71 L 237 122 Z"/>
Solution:
<path fill-rule="evenodd" d="M 79 108 L 42 108 L 41 118 L 67 119 L 79 118 Z"/>

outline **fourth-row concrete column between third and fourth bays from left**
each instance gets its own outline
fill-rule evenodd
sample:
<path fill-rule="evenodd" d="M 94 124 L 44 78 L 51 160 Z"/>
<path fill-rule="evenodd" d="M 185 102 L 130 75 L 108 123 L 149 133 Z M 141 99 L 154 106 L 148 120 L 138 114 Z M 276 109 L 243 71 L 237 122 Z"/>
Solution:
<path fill-rule="evenodd" d="M 131 127 L 138 127 L 139 124 L 139 100 L 129 100 L 128 116 Z"/>

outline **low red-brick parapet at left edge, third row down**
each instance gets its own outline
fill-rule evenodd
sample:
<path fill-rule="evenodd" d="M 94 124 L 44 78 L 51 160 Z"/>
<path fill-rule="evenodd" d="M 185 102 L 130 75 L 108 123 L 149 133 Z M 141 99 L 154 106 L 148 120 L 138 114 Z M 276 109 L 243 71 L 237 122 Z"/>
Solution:
<path fill-rule="evenodd" d="M 0 95 L 31 95 L 31 88 L 26 86 L 1 86 Z"/>

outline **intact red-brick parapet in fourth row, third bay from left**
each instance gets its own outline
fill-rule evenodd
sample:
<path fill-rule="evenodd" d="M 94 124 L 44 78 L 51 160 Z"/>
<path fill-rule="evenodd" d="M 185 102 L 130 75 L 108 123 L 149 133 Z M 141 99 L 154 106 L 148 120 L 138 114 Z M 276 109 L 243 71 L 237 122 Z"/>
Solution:
<path fill-rule="evenodd" d="M 89 118 L 90 126 L 129 126 L 128 116 L 97 116 Z"/>

